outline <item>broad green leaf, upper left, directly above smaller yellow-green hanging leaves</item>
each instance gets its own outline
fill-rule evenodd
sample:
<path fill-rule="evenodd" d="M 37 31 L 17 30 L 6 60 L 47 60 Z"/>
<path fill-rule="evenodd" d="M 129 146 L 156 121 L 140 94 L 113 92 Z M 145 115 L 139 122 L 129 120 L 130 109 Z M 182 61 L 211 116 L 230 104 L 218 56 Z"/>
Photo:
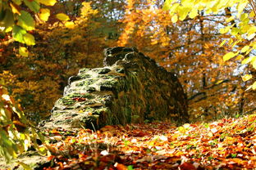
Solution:
<path fill-rule="evenodd" d="M 25 30 L 34 29 L 34 19 L 27 11 L 21 11 L 21 16 L 18 16 L 18 23 Z"/>

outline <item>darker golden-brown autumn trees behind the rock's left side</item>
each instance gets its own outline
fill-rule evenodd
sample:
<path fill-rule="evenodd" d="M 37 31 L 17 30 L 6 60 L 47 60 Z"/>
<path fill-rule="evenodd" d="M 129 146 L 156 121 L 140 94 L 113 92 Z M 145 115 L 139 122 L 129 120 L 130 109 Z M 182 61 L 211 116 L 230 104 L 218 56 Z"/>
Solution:
<path fill-rule="evenodd" d="M 2 38 L 1 75 L 10 92 L 33 118 L 50 114 L 62 96 L 67 79 L 83 67 L 102 65 L 103 49 L 116 46 L 117 20 L 123 13 L 121 1 L 57 2 L 49 7 L 48 22 L 39 20 L 33 31 L 35 45 L 30 53 L 19 54 L 18 42 Z M 75 3 L 75 4 L 71 4 Z M 79 12 L 73 7 L 79 7 Z M 76 9 L 76 8 L 75 8 Z M 115 13 L 113 13 L 115 11 Z M 56 15 L 69 14 L 57 20 Z"/>

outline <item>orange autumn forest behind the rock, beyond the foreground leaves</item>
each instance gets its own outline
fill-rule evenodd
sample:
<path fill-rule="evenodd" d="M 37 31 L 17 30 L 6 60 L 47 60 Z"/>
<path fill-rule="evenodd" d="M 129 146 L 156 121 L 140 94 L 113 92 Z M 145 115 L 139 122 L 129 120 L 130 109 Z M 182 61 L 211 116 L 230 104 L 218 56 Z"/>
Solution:
<path fill-rule="evenodd" d="M 36 44 L 25 46 L 29 55 L 21 56 L 20 43 L 14 42 L 11 34 L 1 34 L 0 76 L 25 114 L 38 121 L 48 117 L 71 75 L 84 67 L 102 66 L 104 48 L 137 47 L 176 73 L 189 100 L 191 120 L 256 110 L 255 91 L 245 91 L 253 81 L 244 82 L 241 78 L 245 74 L 255 78 L 255 69 L 241 65 L 243 57 L 226 62 L 222 58 L 231 51 L 235 38 L 227 32 L 220 34 L 219 29 L 229 24 L 238 26 L 236 20 L 226 22 L 234 15 L 233 9 L 226 7 L 217 14 L 200 11 L 194 19 L 181 21 L 171 17 L 163 3 L 60 0 L 48 7 L 51 16 L 47 22 L 35 18 L 36 29 L 30 30 L 30 34 Z M 70 19 L 57 20 L 57 13 L 65 13 Z M 241 41 L 236 48 L 240 50 L 252 41 Z M 249 55 L 254 55 L 254 51 L 245 57 Z"/>

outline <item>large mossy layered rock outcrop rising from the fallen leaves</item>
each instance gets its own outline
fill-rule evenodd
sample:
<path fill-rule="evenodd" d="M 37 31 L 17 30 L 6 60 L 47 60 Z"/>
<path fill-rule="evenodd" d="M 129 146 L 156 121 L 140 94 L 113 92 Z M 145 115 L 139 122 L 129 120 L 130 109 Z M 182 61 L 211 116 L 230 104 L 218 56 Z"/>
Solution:
<path fill-rule="evenodd" d="M 80 69 L 52 110 L 46 128 L 101 128 L 171 119 L 188 121 L 185 93 L 175 74 L 135 48 L 104 50 L 104 67 Z"/>

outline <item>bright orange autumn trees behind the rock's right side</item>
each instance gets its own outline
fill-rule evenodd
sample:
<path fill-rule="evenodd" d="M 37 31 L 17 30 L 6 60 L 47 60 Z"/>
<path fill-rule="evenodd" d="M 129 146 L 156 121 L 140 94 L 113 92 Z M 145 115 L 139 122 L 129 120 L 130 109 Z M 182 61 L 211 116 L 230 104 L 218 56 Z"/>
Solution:
<path fill-rule="evenodd" d="M 231 47 L 219 44 L 231 36 L 216 28 L 226 26 L 223 23 L 229 14 L 202 11 L 190 13 L 194 20 L 185 17 L 178 21 L 178 16 L 162 10 L 162 5 L 159 1 L 129 1 L 119 45 L 136 46 L 176 72 L 187 92 L 192 117 L 212 119 L 252 110 L 251 98 L 245 100 L 240 63 L 222 60 Z"/>

